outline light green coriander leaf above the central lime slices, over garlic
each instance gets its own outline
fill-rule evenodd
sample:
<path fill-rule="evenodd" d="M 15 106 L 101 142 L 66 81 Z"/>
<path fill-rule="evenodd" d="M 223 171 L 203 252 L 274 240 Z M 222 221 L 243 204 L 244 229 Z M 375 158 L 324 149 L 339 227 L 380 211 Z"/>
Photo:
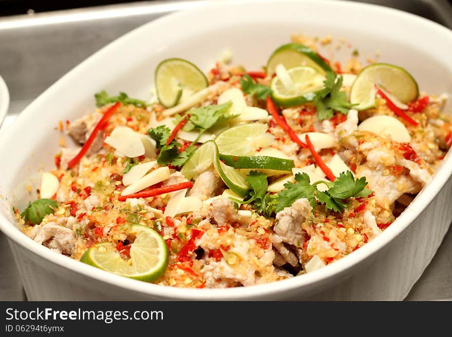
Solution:
<path fill-rule="evenodd" d="M 232 102 L 219 105 L 209 105 L 187 111 L 186 117 L 193 124 L 195 129 L 200 130 L 200 134 L 211 128 L 216 123 L 237 117 L 228 113 Z"/>

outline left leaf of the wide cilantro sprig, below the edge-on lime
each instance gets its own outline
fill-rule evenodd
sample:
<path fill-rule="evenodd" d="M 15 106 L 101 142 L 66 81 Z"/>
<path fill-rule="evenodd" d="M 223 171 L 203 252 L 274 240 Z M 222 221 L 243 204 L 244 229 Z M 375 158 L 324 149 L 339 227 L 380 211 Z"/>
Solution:
<path fill-rule="evenodd" d="M 296 183 L 288 182 L 284 184 L 285 189 L 278 193 L 276 212 L 282 211 L 285 207 L 291 206 L 300 198 L 308 199 L 312 208 L 315 207 L 315 195 L 317 188 L 310 184 L 309 175 L 306 173 L 295 174 Z"/>

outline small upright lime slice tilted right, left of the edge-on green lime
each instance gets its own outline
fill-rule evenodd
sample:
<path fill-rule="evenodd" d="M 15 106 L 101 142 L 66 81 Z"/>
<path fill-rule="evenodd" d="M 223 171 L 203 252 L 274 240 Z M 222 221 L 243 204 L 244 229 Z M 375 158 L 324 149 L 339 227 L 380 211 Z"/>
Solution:
<path fill-rule="evenodd" d="M 196 178 L 212 165 L 216 151 L 217 146 L 213 141 L 205 142 L 190 156 L 180 173 L 188 180 Z"/>

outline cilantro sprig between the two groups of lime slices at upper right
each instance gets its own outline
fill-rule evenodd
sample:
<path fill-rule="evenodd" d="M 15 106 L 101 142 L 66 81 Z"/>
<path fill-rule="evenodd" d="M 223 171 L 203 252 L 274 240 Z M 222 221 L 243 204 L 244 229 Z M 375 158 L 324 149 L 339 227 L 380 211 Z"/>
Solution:
<path fill-rule="evenodd" d="M 327 72 L 324 81 L 325 88 L 314 97 L 319 121 L 333 117 L 334 111 L 347 114 L 352 107 L 352 104 L 347 102 L 347 94 L 341 91 L 342 81 L 342 76 L 337 76 L 336 73 L 331 71 Z"/>

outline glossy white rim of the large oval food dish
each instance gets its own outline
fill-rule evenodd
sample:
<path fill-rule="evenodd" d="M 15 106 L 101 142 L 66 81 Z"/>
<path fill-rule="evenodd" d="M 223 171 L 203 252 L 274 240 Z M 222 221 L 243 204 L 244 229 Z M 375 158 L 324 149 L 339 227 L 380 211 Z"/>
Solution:
<path fill-rule="evenodd" d="M 451 39 L 452 31 L 443 27 L 435 22 L 432 22 L 426 18 L 403 12 L 400 10 L 387 8 L 383 6 L 364 4 L 364 3 L 354 3 L 349 1 L 329 1 L 329 0 L 304 0 L 305 3 L 310 3 L 312 5 L 325 4 L 330 7 L 337 7 L 341 9 L 349 9 L 351 11 L 360 9 L 363 11 L 368 11 L 366 14 L 373 15 L 384 15 L 392 16 L 394 19 L 408 20 L 416 25 L 425 28 L 433 29 L 435 33 L 444 37 Z M 271 0 L 256 1 L 249 0 L 246 4 L 258 3 L 262 5 L 263 3 L 274 3 Z M 285 0 L 280 3 L 297 3 L 294 0 Z M 298 1 L 299 3 L 299 1 Z M 173 13 L 170 15 L 165 15 L 161 18 L 156 19 L 144 26 L 148 25 L 162 25 L 167 21 L 173 21 L 179 18 L 190 17 L 192 13 L 197 13 L 199 11 L 209 11 L 218 10 L 221 6 L 236 6 L 240 5 L 239 2 L 214 2 L 206 4 L 204 7 L 199 7 L 195 9 L 189 9 L 186 11 L 181 11 Z M 64 77 L 62 77 L 58 82 L 47 89 L 40 97 L 46 96 L 54 90 L 54 87 L 58 85 L 60 81 L 63 81 L 69 74 L 74 71 L 79 71 L 83 69 L 84 66 L 95 62 L 100 55 L 107 53 L 111 46 L 115 45 L 123 38 L 127 38 L 129 34 L 133 34 L 134 31 L 142 29 L 143 26 L 123 35 L 122 37 L 116 39 L 114 42 L 110 43 L 106 47 L 102 48 L 95 54 L 88 57 L 82 64 L 72 69 Z M 437 35 L 437 37 L 438 37 Z M 39 98 L 38 98 L 39 99 Z M 32 103 L 33 104 L 33 103 Z M 32 105 L 31 104 L 31 105 Z M 26 109 L 26 111 L 28 108 Z M 21 114 L 22 115 L 22 114 Z M 22 120 L 21 116 L 18 118 Z M 9 128 L 0 138 L 7 138 L 13 136 L 13 128 Z M 335 261 L 324 268 L 318 269 L 312 273 L 304 274 L 303 276 L 292 277 L 290 279 L 281 280 L 277 282 L 253 285 L 246 287 L 236 287 L 236 288 L 226 288 L 226 289 L 192 289 L 192 288 L 177 288 L 170 286 L 160 286 L 153 283 L 145 283 L 133 279 L 127 279 L 126 277 L 112 274 L 110 272 L 80 263 L 77 260 L 73 260 L 68 256 L 55 254 L 50 249 L 35 243 L 33 240 L 29 239 L 25 234 L 18 230 L 15 223 L 10 222 L 3 214 L 0 214 L 0 230 L 2 230 L 8 239 L 13 241 L 15 244 L 25 248 L 26 250 L 39 255 L 43 259 L 47 260 L 49 263 L 56 264 L 67 270 L 74 271 L 84 275 L 85 277 L 101 281 L 105 284 L 111 286 L 120 287 L 127 289 L 129 291 L 134 291 L 138 293 L 144 293 L 148 295 L 154 295 L 158 298 L 168 299 L 168 300 L 247 300 L 254 299 L 262 295 L 274 295 L 277 293 L 283 293 L 289 290 L 294 290 L 296 288 L 308 287 L 310 285 L 320 283 L 329 279 L 332 276 L 337 276 L 345 273 L 348 269 L 356 266 L 370 257 L 372 254 L 378 252 L 392 240 L 394 240 L 398 235 L 400 235 L 409 225 L 416 220 L 416 218 L 423 212 L 423 210 L 432 202 L 434 197 L 440 192 L 442 187 L 445 185 L 450 175 L 452 174 L 452 156 L 447 154 L 444 158 L 444 162 L 437 169 L 434 174 L 434 179 L 425 186 L 425 188 L 418 194 L 415 200 L 407 207 L 407 209 L 394 221 L 391 226 L 383 231 L 382 234 L 375 237 L 369 243 L 361 247 L 359 250 L 344 256 L 342 259 Z"/>

